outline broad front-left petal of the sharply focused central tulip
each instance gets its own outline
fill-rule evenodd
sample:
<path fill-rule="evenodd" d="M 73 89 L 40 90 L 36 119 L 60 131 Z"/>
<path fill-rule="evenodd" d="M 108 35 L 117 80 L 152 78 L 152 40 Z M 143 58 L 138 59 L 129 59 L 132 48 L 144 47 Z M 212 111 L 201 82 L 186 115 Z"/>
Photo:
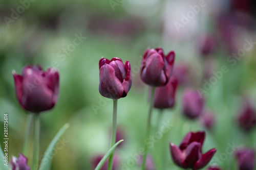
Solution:
<path fill-rule="evenodd" d="M 104 64 L 100 68 L 99 92 L 110 99 L 120 99 L 123 94 L 123 85 L 115 76 L 115 69 L 109 64 Z"/>

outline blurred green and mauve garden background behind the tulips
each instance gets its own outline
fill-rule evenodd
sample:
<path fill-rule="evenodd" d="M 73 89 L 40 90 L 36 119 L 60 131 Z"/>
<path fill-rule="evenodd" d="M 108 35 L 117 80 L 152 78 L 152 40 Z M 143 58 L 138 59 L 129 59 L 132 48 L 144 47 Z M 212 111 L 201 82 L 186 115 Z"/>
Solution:
<path fill-rule="evenodd" d="M 256 101 L 256 46 L 252 44 L 238 59 L 230 56 L 244 48 L 245 40 L 256 41 L 256 4 L 252 0 L 205 0 L 204 7 L 193 15 L 191 6 L 199 2 L 1 0 L 0 140 L 4 138 L 4 113 L 9 113 L 9 160 L 11 155 L 22 152 L 28 117 L 17 102 L 12 70 L 20 73 L 26 64 L 41 64 L 45 69 L 59 70 L 60 90 L 54 109 L 41 114 L 40 155 L 69 122 L 70 128 L 63 135 L 66 143 L 56 151 L 52 169 L 93 169 L 92 159 L 109 149 L 112 123 L 112 101 L 98 91 L 98 61 L 102 56 L 118 57 L 130 61 L 133 74 L 130 92 L 118 101 L 118 128 L 124 138 L 116 150 L 118 169 L 139 169 L 132 155 L 143 147 L 149 107 L 148 87 L 140 80 L 139 67 L 147 47 L 161 46 L 165 53 L 175 50 L 174 72 L 180 83 L 175 107 L 164 110 L 161 120 L 157 119 L 159 110 L 153 112 L 153 128 L 157 121 L 161 125 L 167 121 L 172 124 L 163 141 L 154 142 L 150 149 L 155 169 L 164 169 L 159 146 L 165 148 L 166 169 L 180 169 L 170 158 L 168 142 L 178 145 L 191 130 L 206 131 L 204 152 L 217 148 L 215 157 L 221 163 L 217 159 L 211 163 L 218 163 L 223 169 L 237 169 L 234 155 L 226 153 L 230 144 L 255 148 L 255 130 L 243 132 L 237 117 L 245 101 L 253 105 Z M 190 19 L 184 19 L 184 15 L 190 15 Z M 178 22 L 181 27 L 177 29 Z M 86 38 L 71 48 L 77 36 Z M 208 36 L 213 45 L 205 41 Z M 210 46 L 207 55 L 202 50 L 205 45 Z M 203 93 L 205 110 L 214 112 L 216 117 L 215 126 L 209 131 L 200 118 L 189 120 L 183 116 L 181 95 L 188 87 L 205 89 L 205 81 L 214 77 L 212 71 L 221 70 L 223 65 L 229 71 Z"/>

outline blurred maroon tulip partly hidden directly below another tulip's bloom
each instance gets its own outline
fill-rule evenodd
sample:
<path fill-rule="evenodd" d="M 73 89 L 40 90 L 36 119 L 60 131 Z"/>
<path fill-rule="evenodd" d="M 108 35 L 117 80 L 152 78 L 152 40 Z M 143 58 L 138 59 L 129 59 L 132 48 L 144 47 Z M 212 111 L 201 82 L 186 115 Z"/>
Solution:
<path fill-rule="evenodd" d="M 175 76 L 172 76 L 165 86 L 157 87 L 154 107 L 158 109 L 172 108 L 175 103 L 177 86 L 178 80 Z"/>

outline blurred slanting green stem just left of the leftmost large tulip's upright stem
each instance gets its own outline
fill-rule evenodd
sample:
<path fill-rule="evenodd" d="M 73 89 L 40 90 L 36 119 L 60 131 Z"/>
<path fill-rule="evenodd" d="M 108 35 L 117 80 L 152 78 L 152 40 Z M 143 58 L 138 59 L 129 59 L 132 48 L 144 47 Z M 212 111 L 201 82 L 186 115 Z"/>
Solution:
<path fill-rule="evenodd" d="M 28 149 L 29 149 L 29 139 L 30 139 L 30 133 L 32 129 L 32 123 L 33 123 L 33 114 L 29 113 L 27 118 L 27 125 L 26 125 L 26 131 L 24 135 L 24 143 L 23 143 L 23 151 L 22 153 L 28 157 Z"/>

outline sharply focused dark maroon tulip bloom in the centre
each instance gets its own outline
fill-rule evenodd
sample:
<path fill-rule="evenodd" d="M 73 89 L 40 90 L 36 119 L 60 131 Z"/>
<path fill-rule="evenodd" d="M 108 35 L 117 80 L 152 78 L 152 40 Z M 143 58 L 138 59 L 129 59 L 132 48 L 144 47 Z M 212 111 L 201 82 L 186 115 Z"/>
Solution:
<path fill-rule="evenodd" d="M 99 92 L 106 98 L 124 98 L 132 87 L 129 61 L 123 64 L 120 58 L 99 60 Z"/>

